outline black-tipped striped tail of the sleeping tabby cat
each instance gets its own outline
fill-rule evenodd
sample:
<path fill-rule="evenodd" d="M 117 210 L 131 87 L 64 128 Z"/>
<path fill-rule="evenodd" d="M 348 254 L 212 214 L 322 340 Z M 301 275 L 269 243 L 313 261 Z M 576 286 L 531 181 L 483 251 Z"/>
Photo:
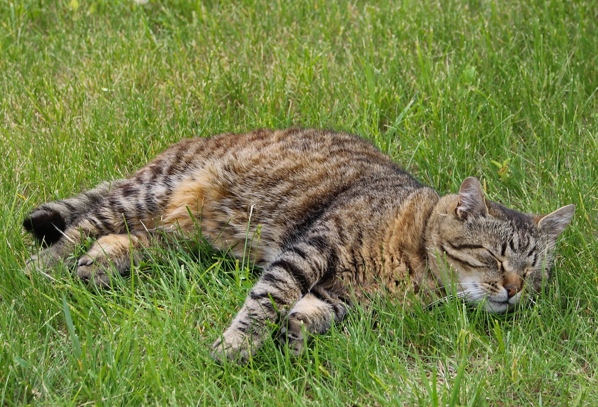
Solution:
<path fill-rule="evenodd" d="M 23 220 L 23 227 L 43 246 L 50 246 L 62 237 L 66 228 L 89 213 L 123 181 L 124 179 L 117 179 L 102 182 L 75 197 L 41 204 Z"/>

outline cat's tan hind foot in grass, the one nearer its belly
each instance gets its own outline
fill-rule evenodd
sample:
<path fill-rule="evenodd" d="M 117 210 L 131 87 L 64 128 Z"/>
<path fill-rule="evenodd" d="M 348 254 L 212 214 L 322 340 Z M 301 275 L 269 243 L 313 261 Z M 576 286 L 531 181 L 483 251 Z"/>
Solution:
<path fill-rule="evenodd" d="M 100 237 L 77 262 L 77 276 L 98 287 L 109 287 L 113 273 L 129 273 L 131 265 L 142 258 L 142 249 L 149 246 L 147 232 L 109 234 Z"/>

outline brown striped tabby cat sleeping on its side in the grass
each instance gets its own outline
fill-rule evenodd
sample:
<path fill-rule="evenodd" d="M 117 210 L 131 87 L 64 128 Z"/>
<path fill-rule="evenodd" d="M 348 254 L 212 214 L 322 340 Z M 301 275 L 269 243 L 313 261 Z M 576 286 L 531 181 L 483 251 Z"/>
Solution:
<path fill-rule="evenodd" d="M 181 140 L 130 178 L 33 209 L 23 225 L 45 248 L 26 270 L 50 276 L 91 238 L 73 266 L 108 287 L 145 247 L 200 228 L 216 249 L 239 258 L 248 249 L 263 269 L 213 344 L 217 360 L 242 362 L 273 323 L 298 354 L 370 295 L 414 292 L 428 302 L 456 293 L 503 313 L 541 290 L 574 210 L 517 212 L 487 200 L 473 177 L 441 197 L 351 134 L 225 133 Z"/>

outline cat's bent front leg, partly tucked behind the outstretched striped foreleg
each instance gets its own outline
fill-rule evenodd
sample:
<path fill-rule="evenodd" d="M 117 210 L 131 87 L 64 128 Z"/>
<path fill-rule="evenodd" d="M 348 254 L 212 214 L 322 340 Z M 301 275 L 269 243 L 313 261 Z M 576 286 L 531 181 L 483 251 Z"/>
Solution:
<path fill-rule="evenodd" d="M 289 310 L 280 328 L 280 342 L 300 354 L 309 336 L 325 333 L 346 316 L 350 305 L 326 289 L 316 286 Z M 307 334 L 307 338 L 304 334 Z"/>

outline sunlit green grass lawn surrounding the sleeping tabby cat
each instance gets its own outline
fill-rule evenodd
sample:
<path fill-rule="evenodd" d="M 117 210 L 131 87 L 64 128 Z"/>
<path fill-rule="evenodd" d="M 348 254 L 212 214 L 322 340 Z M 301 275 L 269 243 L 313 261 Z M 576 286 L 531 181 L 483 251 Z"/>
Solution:
<path fill-rule="evenodd" d="M 598 4 L 0 1 L 0 405 L 598 405 Z M 181 137 L 362 134 L 423 182 L 577 205 L 550 290 L 492 316 L 379 298 L 302 357 L 212 341 L 255 275 L 204 246 L 108 292 L 22 273 L 36 204 Z"/>

